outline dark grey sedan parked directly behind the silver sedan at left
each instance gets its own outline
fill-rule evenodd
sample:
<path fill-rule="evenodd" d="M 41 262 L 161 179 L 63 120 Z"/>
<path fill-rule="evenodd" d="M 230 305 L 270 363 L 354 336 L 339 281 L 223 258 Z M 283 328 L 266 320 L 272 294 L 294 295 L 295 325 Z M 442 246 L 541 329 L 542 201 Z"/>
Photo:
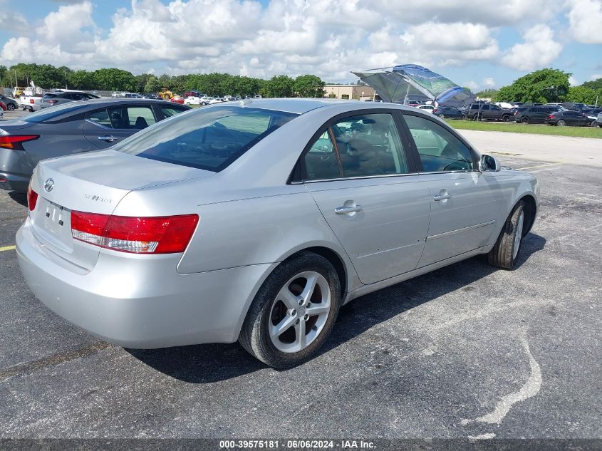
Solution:
<path fill-rule="evenodd" d="M 0 123 L 0 188 L 26 191 L 45 158 L 110 147 L 138 130 L 190 110 L 165 100 L 70 102 Z"/>

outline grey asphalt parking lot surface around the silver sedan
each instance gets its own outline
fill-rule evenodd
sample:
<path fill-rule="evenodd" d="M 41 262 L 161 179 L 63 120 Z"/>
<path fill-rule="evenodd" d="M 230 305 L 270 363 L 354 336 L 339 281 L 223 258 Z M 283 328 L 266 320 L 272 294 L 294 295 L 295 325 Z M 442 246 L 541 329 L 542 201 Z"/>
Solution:
<path fill-rule="evenodd" d="M 0 437 L 601 437 L 600 168 L 501 159 L 541 183 L 515 271 L 478 257 L 363 296 L 286 371 L 66 323 L 28 291 L 25 197 L 0 191 Z"/>

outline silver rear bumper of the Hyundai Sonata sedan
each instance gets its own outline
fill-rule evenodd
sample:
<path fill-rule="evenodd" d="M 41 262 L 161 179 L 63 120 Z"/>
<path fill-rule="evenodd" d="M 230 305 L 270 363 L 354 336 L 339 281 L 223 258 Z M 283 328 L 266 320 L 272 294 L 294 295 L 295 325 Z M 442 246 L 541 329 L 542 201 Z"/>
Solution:
<path fill-rule="evenodd" d="M 180 254 L 124 256 L 103 250 L 87 272 L 38 242 L 29 220 L 17 232 L 16 252 L 28 286 L 43 304 L 94 336 L 128 348 L 236 341 L 271 269 L 261 264 L 182 275 L 176 272 Z"/>

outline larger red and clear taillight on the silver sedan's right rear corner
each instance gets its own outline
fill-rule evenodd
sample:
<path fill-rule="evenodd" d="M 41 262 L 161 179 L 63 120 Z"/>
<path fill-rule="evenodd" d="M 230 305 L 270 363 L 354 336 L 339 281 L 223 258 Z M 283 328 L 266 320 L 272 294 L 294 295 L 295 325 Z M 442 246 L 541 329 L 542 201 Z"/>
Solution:
<path fill-rule="evenodd" d="M 184 252 L 199 222 L 198 214 L 125 217 L 71 212 L 73 238 L 135 254 Z"/>

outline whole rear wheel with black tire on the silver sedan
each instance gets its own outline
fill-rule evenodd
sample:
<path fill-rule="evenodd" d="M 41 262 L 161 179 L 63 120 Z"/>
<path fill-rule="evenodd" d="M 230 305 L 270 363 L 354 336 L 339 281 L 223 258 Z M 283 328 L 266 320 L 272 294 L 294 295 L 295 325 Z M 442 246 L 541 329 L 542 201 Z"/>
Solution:
<path fill-rule="evenodd" d="M 340 307 L 341 286 L 330 261 L 303 252 L 279 264 L 261 285 L 239 342 L 273 368 L 292 368 L 321 348 Z"/>

